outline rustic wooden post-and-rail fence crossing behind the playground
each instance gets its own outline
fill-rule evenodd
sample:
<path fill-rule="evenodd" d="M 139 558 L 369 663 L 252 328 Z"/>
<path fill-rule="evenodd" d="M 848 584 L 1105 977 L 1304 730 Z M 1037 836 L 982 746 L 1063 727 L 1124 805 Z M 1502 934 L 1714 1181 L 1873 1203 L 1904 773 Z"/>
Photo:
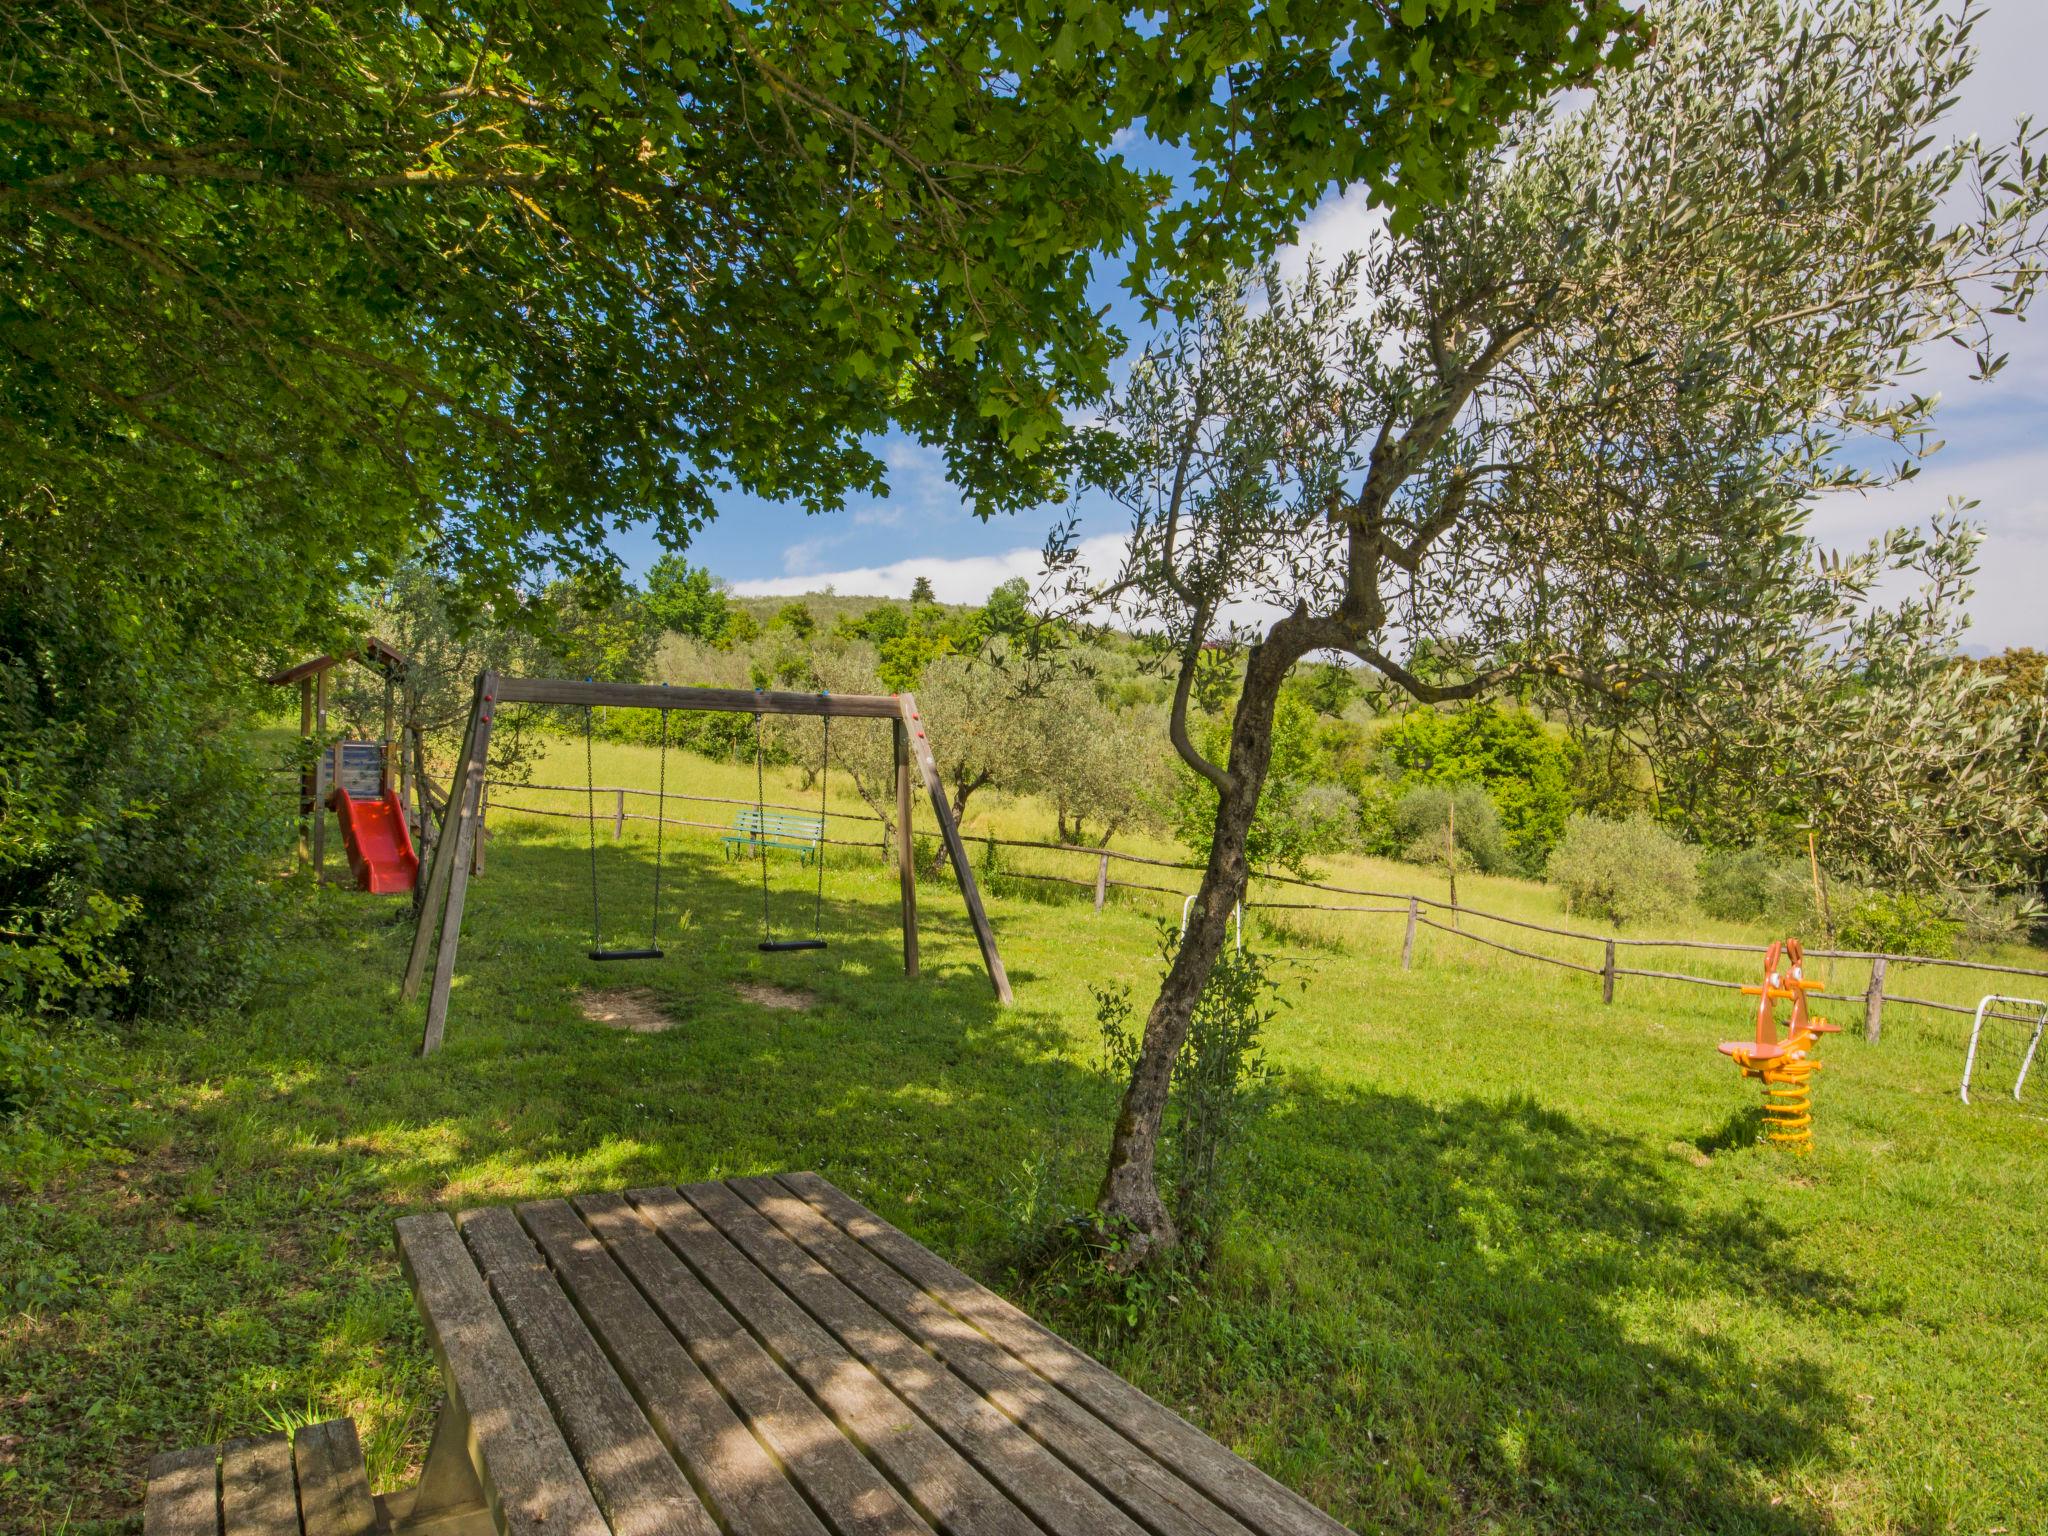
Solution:
<path fill-rule="evenodd" d="M 627 809 L 627 797 L 655 799 L 659 795 L 659 799 L 666 799 L 666 801 L 690 801 L 690 803 L 698 803 L 698 805 L 735 805 L 735 807 L 739 807 L 739 805 L 756 805 L 756 801 L 731 799 L 731 797 L 723 797 L 723 795 L 692 795 L 692 793 L 684 793 L 684 791 L 631 788 L 631 786 L 625 786 L 625 784 L 598 784 L 598 786 L 588 786 L 588 784 L 522 784 L 522 782 L 494 778 L 494 780 L 487 780 L 487 791 L 489 793 L 485 795 L 485 805 L 487 805 L 489 811 L 512 813 L 512 815 L 561 817 L 561 819 L 571 819 L 571 821 L 602 819 L 602 821 L 610 823 L 614 840 L 618 840 L 618 838 L 625 836 L 625 827 L 627 827 L 629 821 L 662 821 L 664 825 L 670 825 L 670 827 L 696 827 L 696 829 L 702 829 L 702 831 L 729 831 L 729 827 L 725 823 L 721 823 L 721 821 L 694 821 L 694 819 L 686 819 L 686 817 L 670 817 L 670 815 L 657 815 L 657 813 L 647 813 L 647 811 L 629 811 Z M 596 801 L 604 803 L 606 809 L 598 811 L 596 817 L 592 817 L 592 811 L 588 807 L 584 811 L 557 811 L 557 809 L 537 807 L 537 805 L 512 805 L 512 803 L 506 803 L 502 799 L 504 795 L 516 795 L 516 793 L 522 793 L 522 791 L 526 791 L 526 793 L 555 793 L 555 795 L 594 797 Z M 817 809 L 815 805 L 788 805 L 788 803 L 782 803 L 782 801 L 762 801 L 762 805 L 768 807 L 768 809 L 778 809 L 778 811 L 805 811 L 805 813 L 815 813 L 815 809 Z M 825 838 L 823 842 L 831 844 L 834 848 L 887 848 L 889 823 L 881 815 L 872 815 L 868 811 L 829 811 L 827 813 L 827 821 L 866 821 L 866 823 L 872 823 L 872 825 L 881 827 L 881 831 L 874 838 L 858 838 L 858 840 L 856 838 Z M 1081 877 L 1075 877 L 1075 874 L 1055 874 L 1055 872 L 1049 872 L 1049 870 L 1020 870 L 1020 868 L 1006 868 L 1006 870 L 1001 870 L 1001 879 L 1040 881 L 1040 883 L 1047 883 L 1047 885 L 1071 885 L 1071 887 L 1094 891 L 1096 893 L 1096 911 L 1102 911 L 1102 905 L 1104 905 L 1104 901 L 1106 901 L 1106 897 L 1108 897 L 1110 891 L 1147 891 L 1147 893 L 1171 895 L 1171 897 L 1186 897 L 1186 895 L 1190 895 L 1188 891 L 1182 891 L 1182 889 L 1171 887 L 1171 885 L 1153 885 L 1149 881 L 1112 879 L 1110 877 L 1110 866 L 1112 864 L 1137 864 L 1137 866 L 1143 866 L 1143 868 L 1169 868 L 1169 870 L 1188 870 L 1188 872 L 1200 872 L 1202 870 L 1202 864 L 1196 864 L 1192 860 L 1184 860 L 1184 858 L 1157 858 L 1153 854 L 1133 854 L 1133 852 L 1124 852 L 1122 848 L 1090 848 L 1085 844 L 1071 844 L 1071 842 L 1038 842 L 1038 840 L 1030 840 L 1030 838 L 995 838 L 995 836 L 973 838 L 971 842 L 981 844 L 981 846 L 993 846 L 993 848 L 1018 848 L 1018 850 L 1049 852 L 1049 854 L 1073 854 L 1073 856 L 1081 856 L 1081 858 L 1094 860 L 1094 864 L 1096 864 L 1094 879 L 1081 879 Z M 1616 965 L 1616 950 L 1618 948 L 1632 948 L 1632 950 L 1702 950 L 1702 952 L 1722 952 L 1722 954 L 1757 954 L 1757 946 L 1755 944 L 1731 944 L 1726 940 L 1716 940 L 1716 938 L 1636 938 L 1636 936 L 1622 936 L 1622 934 L 1587 934 L 1587 932 L 1577 930 L 1577 928 L 1556 928 L 1552 924 L 1530 922 L 1528 918 L 1509 918 L 1509 915 L 1499 913 L 1499 911 L 1483 911 L 1479 907 L 1466 907 L 1466 905 L 1458 905 L 1458 903 L 1452 903 L 1452 901 L 1438 901 L 1436 897 L 1417 895 L 1415 891 L 1372 891 L 1372 889 L 1362 889 L 1362 887 L 1352 887 L 1352 885 L 1329 885 L 1327 881 L 1309 881 L 1309 879 L 1303 879 L 1298 874 L 1266 874 L 1266 872 L 1260 872 L 1260 874 L 1253 874 L 1251 879 L 1255 883 L 1264 883 L 1264 885 L 1294 887 L 1294 889 L 1303 889 L 1303 891 L 1315 891 L 1319 895 L 1360 897 L 1360 899 L 1372 901 L 1372 903 L 1395 903 L 1395 905 L 1356 905 L 1356 903 L 1327 903 L 1327 901 L 1245 901 L 1245 907 L 1249 907 L 1251 911 L 1331 911 L 1331 913 L 1368 913 L 1368 915 L 1384 915 L 1384 918 L 1403 918 L 1405 915 L 1407 918 L 1407 932 L 1403 934 L 1403 940 L 1401 940 L 1401 969 L 1403 971 L 1407 971 L 1407 969 L 1413 967 L 1413 958 L 1415 958 L 1415 930 L 1417 928 L 1430 928 L 1432 932 L 1450 934 L 1452 938 L 1460 938 L 1460 940 L 1466 940 L 1470 944 L 1481 944 L 1485 948 L 1503 950 L 1507 954 L 1516 954 L 1516 956 L 1522 956 L 1526 961 L 1536 961 L 1538 965 L 1554 965 L 1554 967 L 1561 967 L 1565 971 L 1577 971 L 1581 975 L 1599 977 L 1602 979 L 1602 1001 L 1608 1001 L 1608 1004 L 1614 1001 L 1614 981 L 1616 981 L 1616 977 L 1638 977 L 1638 979 L 1645 979 L 1645 981 L 1677 981 L 1677 983 L 1692 985 L 1692 987 L 1718 987 L 1722 991 L 1739 991 L 1743 985 L 1747 985 L 1743 981 L 1731 981 L 1726 977 L 1698 977 L 1698 975 L 1692 975 L 1688 971 L 1659 971 L 1659 969 L 1651 969 L 1651 967 Z M 1434 918 L 1430 913 L 1450 913 L 1450 922 L 1440 922 L 1438 918 Z M 1487 938 L 1485 934 L 1475 934 L 1470 928 L 1464 928 L 1462 920 L 1466 920 L 1466 918 L 1479 920 L 1479 922 L 1505 924 L 1509 928 L 1522 928 L 1522 930 L 1536 932 L 1536 934 L 1548 934 L 1552 938 L 1565 938 L 1565 940 L 1571 940 L 1571 942 L 1577 942 L 1577 944 L 1597 944 L 1599 952 L 1602 952 L 1602 963 L 1599 965 L 1585 965 L 1583 961 L 1569 961 L 1569 958 L 1565 958 L 1561 954 L 1542 954 L 1540 950 L 1522 948 L 1520 944 L 1509 944 L 1509 942 L 1505 942 L 1501 938 Z M 1993 973 L 1993 975 L 2042 977 L 2042 979 L 2048 979 L 2048 969 L 2036 969 L 2036 967 L 2025 967 L 2025 965 L 1999 965 L 1999 963 L 1993 963 L 1993 961 L 1958 961 L 1958 958 L 1950 958 L 1950 956 L 1944 956 L 1944 954 L 1884 954 L 1884 952 L 1878 952 L 1878 950 L 1815 950 L 1815 948 L 1810 948 L 1810 950 L 1806 950 L 1806 956 L 1808 958 L 1817 958 L 1817 961 L 1868 961 L 1870 963 L 1870 985 L 1864 991 L 1817 991 L 1817 993 L 1810 993 L 1815 997 L 1825 997 L 1829 1001 L 1864 1004 L 1864 1038 L 1868 1038 L 1868 1040 L 1876 1040 L 1880 1036 L 1882 1016 L 1884 1016 L 1884 1006 L 1886 1004 L 1892 1004 L 1894 1008 L 1927 1008 L 1927 1010 L 1933 1010 L 1933 1012 L 1939 1012 L 1939 1014 L 1972 1014 L 1972 1012 L 1976 1012 L 1974 1008 L 1970 1008 L 1966 1004 L 1946 1004 L 1946 1001 L 1937 1001 L 1933 997 L 1907 997 L 1903 993 L 1890 993 L 1890 991 L 1886 991 L 1884 989 L 1884 973 L 1892 965 L 1925 965 L 1925 967 L 1946 967 L 1946 969 L 1954 969 L 1954 971 L 1982 971 L 1982 973 Z"/>

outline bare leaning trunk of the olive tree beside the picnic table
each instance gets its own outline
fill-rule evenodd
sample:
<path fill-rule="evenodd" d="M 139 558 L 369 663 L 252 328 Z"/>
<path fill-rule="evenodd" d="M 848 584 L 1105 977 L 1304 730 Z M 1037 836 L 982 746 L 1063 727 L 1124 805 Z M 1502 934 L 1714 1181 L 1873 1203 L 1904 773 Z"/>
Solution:
<path fill-rule="evenodd" d="M 1096 1196 L 1096 1210 L 1106 1231 L 1120 1241 L 1114 1257 L 1118 1268 L 1135 1268 L 1180 1241 L 1174 1217 L 1159 1198 L 1159 1124 L 1165 1120 L 1174 1063 L 1188 1038 L 1194 1006 L 1229 936 L 1231 907 L 1245 897 L 1251 874 L 1245 862 L 1245 838 L 1272 762 L 1274 707 L 1288 668 L 1309 649 L 1292 635 L 1296 625 L 1298 618 L 1276 625 L 1245 666 L 1245 686 L 1231 721 L 1229 766 L 1219 786 L 1217 836 L 1208 848 L 1208 866 L 1202 870 L 1202 885 L 1188 913 L 1188 932 L 1174 950 L 1174 963 L 1145 1016 L 1145 1040 L 1116 1116 L 1110 1167 Z"/>

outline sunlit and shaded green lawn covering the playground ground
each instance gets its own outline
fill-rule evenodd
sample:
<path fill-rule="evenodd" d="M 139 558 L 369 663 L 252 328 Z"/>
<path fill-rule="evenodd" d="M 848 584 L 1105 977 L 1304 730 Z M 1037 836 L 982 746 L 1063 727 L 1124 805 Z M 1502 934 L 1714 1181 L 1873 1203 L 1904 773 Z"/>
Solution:
<path fill-rule="evenodd" d="M 600 754 L 600 782 L 651 784 L 649 754 Z M 1169 899 L 997 897 L 997 1010 L 946 885 L 915 983 L 893 877 L 850 856 L 831 948 L 762 956 L 754 866 L 672 834 L 670 956 L 598 967 L 582 825 L 498 827 L 438 1057 L 395 1006 L 403 903 L 328 891 L 246 1010 L 137 1042 L 125 1161 L 8 1190 L 0 1526 L 119 1522 L 152 1452 L 326 1413 L 358 1417 L 377 1487 L 410 1479 L 436 1389 L 406 1210 L 815 1167 L 1358 1530 L 2048 1530 L 2048 1120 L 1956 1102 L 1962 1020 L 1831 1042 L 1792 1159 L 1714 1053 L 1735 995 L 1624 981 L 1610 1010 L 1438 934 L 1403 973 L 1395 920 L 1262 934 L 1290 1008 L 1243 1204 L 1204 1288 L 1120 1307 L 1042 1239 L 1087 1204 L 1116 1100 L 1090 987 L 1147 987 Z M 649 831 L 600 860 L 608 911 L 645 922 Z M 809 877 L 772 874 L 799 922 Z M 1460 895 L 1556 915 L 1540 887 Z M 762 1010 L 756 979 L 817 1006 Z M 676 1028 L 584 1020 L 578 989 L 618 985 Z"/>

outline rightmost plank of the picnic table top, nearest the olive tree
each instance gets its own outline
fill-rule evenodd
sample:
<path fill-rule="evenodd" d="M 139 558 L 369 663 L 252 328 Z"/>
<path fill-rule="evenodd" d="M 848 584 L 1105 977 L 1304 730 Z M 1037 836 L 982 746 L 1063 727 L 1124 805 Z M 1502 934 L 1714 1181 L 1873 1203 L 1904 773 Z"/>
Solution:
<path fill-rule="evenodd" d="M 1268 1536 L 1346 1536 L 1343 1526 L 1298 1493 L 1231 1454 L 1184 1417 L 993 1290 L 975 1284 L 817 1174 L 784 1174 L 780 1182 L 1253 1530 Z"/>

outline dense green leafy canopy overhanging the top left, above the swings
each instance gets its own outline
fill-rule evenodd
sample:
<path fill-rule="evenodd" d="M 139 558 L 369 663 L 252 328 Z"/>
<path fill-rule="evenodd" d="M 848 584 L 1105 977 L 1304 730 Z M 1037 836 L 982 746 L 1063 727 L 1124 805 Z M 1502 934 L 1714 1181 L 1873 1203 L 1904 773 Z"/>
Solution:
<path fill-rule="evenodd" d="M 502 590 L 727 483 L 829 508 L 891 424 L 1032 500 L 1116 350 L 1100 254 L 1165 293 L 1331 180 L 1438 193 L 1620 16 L 16 0 L 8 537 L 119 526 L 274 616 L 418 532 Z M 1141 119 L 1184 195 L 1114 154 Z"/>

